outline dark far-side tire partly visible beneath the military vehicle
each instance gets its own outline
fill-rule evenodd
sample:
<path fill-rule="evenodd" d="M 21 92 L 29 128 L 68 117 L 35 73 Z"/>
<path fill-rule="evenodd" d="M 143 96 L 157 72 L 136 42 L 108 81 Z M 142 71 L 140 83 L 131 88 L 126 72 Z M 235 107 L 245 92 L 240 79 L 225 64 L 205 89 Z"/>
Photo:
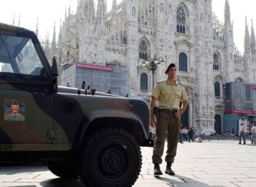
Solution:
<path fill-rule="evenodd" d="M 79 167 L 75 162 L 51 161 L 47 163 L 47 167 L 54 175 L 61 178 L 79 177 Z"/>

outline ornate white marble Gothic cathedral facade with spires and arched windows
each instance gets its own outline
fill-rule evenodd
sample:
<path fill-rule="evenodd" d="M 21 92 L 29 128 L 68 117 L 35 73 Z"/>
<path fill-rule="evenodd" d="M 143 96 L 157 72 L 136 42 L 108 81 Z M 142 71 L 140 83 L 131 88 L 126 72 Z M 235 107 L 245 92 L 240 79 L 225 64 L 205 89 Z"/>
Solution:
<path fill-rule="evenodd" d="M 66 12 L 51 49 L 61 64 L 126 67 L 129 97 L 147 101 L 169 63 L 176 63 L 177 81 L 189 97 L 182 121 L 210 132 L 216 115 L 224 114 L 223 85 L 256 82 L 254 28 L 249 33 L 245 25 L 242 55 L 234 44 L 228 0 L 224 23 L 213 14 L 211 0 L 113 0 L 110 12 L 106 0 L 96 6 L 94 0 L 79 0 L 75 14 L 70 7 Z"/>

